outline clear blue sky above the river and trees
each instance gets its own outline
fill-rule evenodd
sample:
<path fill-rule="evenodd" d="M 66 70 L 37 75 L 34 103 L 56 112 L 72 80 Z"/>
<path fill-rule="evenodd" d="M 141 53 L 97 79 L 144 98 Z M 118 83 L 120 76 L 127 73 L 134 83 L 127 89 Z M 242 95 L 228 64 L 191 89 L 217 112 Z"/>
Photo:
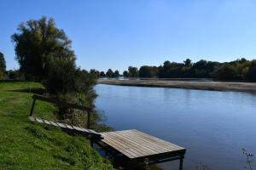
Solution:
<path fill-rule="evenodd" d="M 1 0 L 0 8 L 8 69 L 19 68 L 11 35 L 43 15 L 67 33 L 86 70 L 256 58 L 255 0 Z"/>

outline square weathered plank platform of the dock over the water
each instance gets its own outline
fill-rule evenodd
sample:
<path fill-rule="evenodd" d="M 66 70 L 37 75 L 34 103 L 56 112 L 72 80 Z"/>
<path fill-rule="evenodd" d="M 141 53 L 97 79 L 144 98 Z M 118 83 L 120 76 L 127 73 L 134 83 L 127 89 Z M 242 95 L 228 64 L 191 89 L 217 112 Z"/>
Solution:
<path fill-rule="evenodd" d="M 101 133 L 102 142 L 118 150 L 131 160 L 168 161 L 180 159 L 183 163 L 185 149 L 137 130 Z M 182 158 L 182 159 L 181 159 Z"/>

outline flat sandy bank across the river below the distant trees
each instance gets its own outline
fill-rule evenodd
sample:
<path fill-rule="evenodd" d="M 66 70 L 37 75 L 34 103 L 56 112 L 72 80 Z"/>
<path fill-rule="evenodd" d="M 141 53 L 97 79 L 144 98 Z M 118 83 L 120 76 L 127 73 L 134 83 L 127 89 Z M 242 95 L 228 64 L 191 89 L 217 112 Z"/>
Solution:
<path fill-rule="evenodd" d="M 256 93 L 255 82 L 199 82 L 199 81 L 167 81 L 167 80 L 118 80 L 98 79 L 99 84 L 110 84 L 120 86 L 156 87 L 156 88 L 186 88 L 216 91 L 240 91 Z"/>

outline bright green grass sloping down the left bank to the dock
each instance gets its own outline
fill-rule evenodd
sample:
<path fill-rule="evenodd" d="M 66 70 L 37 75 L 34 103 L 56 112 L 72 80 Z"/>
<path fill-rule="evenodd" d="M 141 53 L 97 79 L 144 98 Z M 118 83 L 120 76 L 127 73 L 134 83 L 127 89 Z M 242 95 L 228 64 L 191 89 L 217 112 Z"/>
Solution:
<path fill-rule="evenodd" d="M 0 82 L 0 169 L 113 169 L 83 137 L 28 119 L 36 82 Z M 51 116 L 53 106 L 35 108 Z"/>

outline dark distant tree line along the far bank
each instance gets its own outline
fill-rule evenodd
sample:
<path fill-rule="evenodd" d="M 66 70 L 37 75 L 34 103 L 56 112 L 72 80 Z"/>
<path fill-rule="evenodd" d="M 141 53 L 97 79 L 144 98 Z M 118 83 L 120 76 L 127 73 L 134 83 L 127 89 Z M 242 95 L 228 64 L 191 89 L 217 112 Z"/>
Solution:
<path fill-rule="evenodd" d="M 114 76 L 113 76 L 114 75 Z M 216 62 L 201 59 L 192 63 L 191 59 L 185 59 L 183 63 L 166 60 L 160 66 L 143 65 L 139 69 L 129 66 L 123 72 L 124 77 L 142 78 L 212 78 L 222 81 L 247 81 L 256 82 L 256 59 L 236 59 L 231 62 Z M 109 69 L 102 72 L 99 77 L 117 77 Z"/>

